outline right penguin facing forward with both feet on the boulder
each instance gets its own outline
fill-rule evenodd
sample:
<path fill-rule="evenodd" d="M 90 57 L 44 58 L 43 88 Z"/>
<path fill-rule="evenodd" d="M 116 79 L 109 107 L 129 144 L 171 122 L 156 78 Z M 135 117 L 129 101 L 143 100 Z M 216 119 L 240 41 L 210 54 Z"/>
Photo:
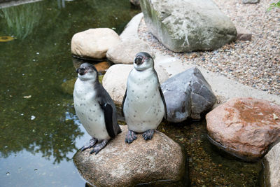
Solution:
<path fill-rule="evenodd" d="M 128 127 L 125 142 L 128 144 L 137 139 L 137 133 L 143 133 L 145 140 L 152 139 L 162 118 L 167 117 L 165 97 L 153 57 L 145 52 L 137 53 L 133 64 L 122 103 L 122 113 Z"/>

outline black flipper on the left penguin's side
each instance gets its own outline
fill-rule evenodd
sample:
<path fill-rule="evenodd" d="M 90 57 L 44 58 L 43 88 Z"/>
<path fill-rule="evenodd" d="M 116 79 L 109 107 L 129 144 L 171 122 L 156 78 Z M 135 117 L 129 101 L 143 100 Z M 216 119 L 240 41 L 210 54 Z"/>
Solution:
<path fill-rule="evenodd" d="M 100 104 L 102 110 L 104 111 L 106 130 L 111 138 L 116 137 L 113 130 L 113 108 L 110 104 L 104 103 Z"/>

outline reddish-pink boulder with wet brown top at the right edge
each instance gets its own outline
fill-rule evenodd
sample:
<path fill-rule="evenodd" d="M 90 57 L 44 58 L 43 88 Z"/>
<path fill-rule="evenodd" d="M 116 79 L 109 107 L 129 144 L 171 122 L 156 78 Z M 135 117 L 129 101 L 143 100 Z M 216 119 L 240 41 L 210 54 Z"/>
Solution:
<path fill-rule="evenodd" d="M 233 98 L 207 113 L 209 139 L 248 161 L 258 160 L 280 137 L 280 106 L 264 99 Z"/>

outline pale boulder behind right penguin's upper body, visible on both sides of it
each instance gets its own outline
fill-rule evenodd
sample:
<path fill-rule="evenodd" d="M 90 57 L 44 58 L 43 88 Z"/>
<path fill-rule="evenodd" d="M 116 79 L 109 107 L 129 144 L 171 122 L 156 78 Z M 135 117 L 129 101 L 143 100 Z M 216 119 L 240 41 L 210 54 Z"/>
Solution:
<path fill-rule="evenodd" d="M 111 66 L 104 75 L 102 84 L 117 105 L 123 102 L 123 96 L 127 89 L 127 77 L 132 69 L 133 64 L 116 64 Z M 169 78 L 162 67 L 155 65 L 155 71 L 158 73 L 160 83 Z"/>

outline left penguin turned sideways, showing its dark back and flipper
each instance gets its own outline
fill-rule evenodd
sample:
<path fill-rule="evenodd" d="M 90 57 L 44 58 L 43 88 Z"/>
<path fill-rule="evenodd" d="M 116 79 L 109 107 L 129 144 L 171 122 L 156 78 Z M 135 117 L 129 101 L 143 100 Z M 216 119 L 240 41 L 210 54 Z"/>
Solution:
<path fill-rule="evenodd" d="M 110 139 L 121 132 L 116 106 L 109 93 L 99 83 L 98 72 L 94 65 L 80 64 L 76 73 L 78 73 L 78 79 L 73 90 L 74 108 L 80 123 L 92 136 L 92 139 L 81 150 L 85 151 L 93 147 L 90 154 L 97 154 Z"/>

